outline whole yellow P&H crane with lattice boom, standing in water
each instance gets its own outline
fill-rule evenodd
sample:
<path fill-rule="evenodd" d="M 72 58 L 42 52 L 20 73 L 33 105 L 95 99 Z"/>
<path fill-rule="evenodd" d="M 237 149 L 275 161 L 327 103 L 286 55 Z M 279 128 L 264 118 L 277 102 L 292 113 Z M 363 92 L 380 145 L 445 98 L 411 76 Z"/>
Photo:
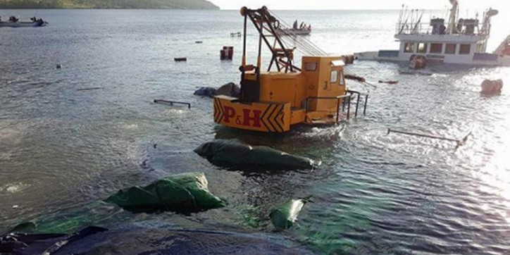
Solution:
<path fill-rule="evenodd" d="M 350 111 L 350 99 L 354 94 L 358 95 L 357 114 L 360 94 L 347 90 L 342 56 L 303 56 L 301 67 L 294 66 L 294 48 L 289 49 L 282 39 L 288 35 L 282 35 L 285 30 L 280 29 L 280 21 L 266 6 L 243 7 L 241 15 L 244 16 L 241 93 L 239 98 L 214 97 L 216 123 L 263 132 L 286 132 L 299 123 L 334 124 L 342 118 L 341 107 L 347 104 Z M 259 33 L 256 66 L 247 65 L 246 61 L 248 20 Z M 269 42 L 270 37 L 274 38 L 273 44 Z M 261 70 L 262 44 L 266 44 L 272 54 L 265 71 Z M 364 82 L 361 77 L 347 77 Z M 365 109 L 367 100 L 368 95 Z"/>

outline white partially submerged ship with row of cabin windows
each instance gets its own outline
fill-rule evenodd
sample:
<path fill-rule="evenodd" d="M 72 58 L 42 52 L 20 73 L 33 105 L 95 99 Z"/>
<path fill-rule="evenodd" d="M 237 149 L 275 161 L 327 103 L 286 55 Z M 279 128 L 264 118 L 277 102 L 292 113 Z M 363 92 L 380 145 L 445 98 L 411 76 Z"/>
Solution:
<path fill-rule="evenodd" d="M 411 61 L 421 56 L 428 63 L 455 63 L 482 66 L 510 66 L 509 38 L 493 53 L 487 53 L 491 18 L 498 11 L 492 8 L 483 13 L 483 20 L 459 18 L 459 1 L 450 0 L 447 23 L 444 18 L 432 18 L 422 23 L 423 12 L 400 13 L 394 37 L 400 42 L 398 50 L 366 51 L 354 54 L 360 60 Z"/>

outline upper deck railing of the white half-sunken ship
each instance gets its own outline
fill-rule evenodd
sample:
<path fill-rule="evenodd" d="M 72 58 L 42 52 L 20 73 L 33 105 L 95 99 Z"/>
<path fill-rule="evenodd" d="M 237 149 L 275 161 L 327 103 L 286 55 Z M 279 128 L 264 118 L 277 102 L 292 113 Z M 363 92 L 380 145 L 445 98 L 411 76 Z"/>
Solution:
<path fill-rule="evenodd" d="M 441 24 L 433 23 L 397 23 L 395 35 L 449 35 L 448 23 L 444 23 L 443 32 Z M 481 28 L 480 28 L 481 27 Z M 488 35 L 489 29 L 484 29 L 478 23 L 456 23 L 453 35 Z"/>

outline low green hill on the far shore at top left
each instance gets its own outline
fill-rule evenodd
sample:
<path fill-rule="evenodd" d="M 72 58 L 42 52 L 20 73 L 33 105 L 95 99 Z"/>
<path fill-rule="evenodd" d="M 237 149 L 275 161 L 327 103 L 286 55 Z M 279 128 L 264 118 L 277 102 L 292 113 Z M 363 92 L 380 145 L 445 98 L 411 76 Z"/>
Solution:
<path fill-rule="evenodd" d="M 1 8 L 219 9 L 206 0 L 0 0 Z"/>

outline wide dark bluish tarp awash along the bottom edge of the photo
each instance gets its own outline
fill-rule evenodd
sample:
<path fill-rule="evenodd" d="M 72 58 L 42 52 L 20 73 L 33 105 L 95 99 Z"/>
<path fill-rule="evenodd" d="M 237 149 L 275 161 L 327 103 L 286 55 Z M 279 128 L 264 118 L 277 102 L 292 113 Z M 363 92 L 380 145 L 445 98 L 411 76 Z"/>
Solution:
<path fill-rule="evenodd" d="M 222 230 L 185 230 L 144 221 L 104 231 L 89 227 L 77 234 L 39 239 L 14 254 L 312 254 L 281 235 Z M 46 235 L 46 234 L 42 234 Z M 54 235 L 54 234 L 52 234 Z M 33 236 L 27 234 L 27 236 Z M 74 237 L 72 237 L 74 236 Z M 50 237 L 50 235 L 48 235 Z M 72 237 L 72 240 L 69 240 Z M 66 242 L 72 241 L 72 242 Z M 66 242 L 63 244 L 61 241 Z M 59 244 L 57 244 L 59 243 Z M 62 245 L 63 244 L 63 245 Z M 0 244 L 1 245 L 1 244 Z M 58 247 L 58 249 L 50 249 Z"/>

